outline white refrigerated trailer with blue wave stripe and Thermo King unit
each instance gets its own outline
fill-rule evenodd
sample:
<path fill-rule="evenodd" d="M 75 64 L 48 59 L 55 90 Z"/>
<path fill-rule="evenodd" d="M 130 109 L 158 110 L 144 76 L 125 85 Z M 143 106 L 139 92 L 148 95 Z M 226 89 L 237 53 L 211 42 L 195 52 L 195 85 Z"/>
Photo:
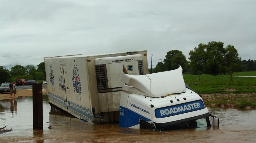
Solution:
<path fill-rule="evenodd" d="M 91 123 L 119 121 L 124 82 L 129 75 L 148 74 L 147 51 L 44 58 L 51 106 Z"/>

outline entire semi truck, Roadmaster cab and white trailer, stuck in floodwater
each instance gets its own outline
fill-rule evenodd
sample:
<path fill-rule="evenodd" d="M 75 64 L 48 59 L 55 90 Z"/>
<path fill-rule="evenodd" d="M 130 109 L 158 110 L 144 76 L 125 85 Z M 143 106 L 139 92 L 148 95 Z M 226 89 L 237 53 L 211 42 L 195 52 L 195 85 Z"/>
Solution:
<path fill-rule="evenodd" d="M 185 84 L 181 67 L 148 74 L 147 51 L 44 62 L 50 105 L 79 119 L 155 131 L 219 126 L 219 118 Z"/>

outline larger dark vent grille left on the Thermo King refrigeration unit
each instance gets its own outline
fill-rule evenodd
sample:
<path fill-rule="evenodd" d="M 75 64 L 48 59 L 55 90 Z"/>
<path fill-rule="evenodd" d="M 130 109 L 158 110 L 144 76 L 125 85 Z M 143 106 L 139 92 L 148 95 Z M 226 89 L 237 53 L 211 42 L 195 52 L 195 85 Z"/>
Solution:
<path fill-rule="evenodd" d="M 97 77 L 97 87 L 107 88 L 107 70 L 106 65 L 95 65 L 96 77 Z"/>

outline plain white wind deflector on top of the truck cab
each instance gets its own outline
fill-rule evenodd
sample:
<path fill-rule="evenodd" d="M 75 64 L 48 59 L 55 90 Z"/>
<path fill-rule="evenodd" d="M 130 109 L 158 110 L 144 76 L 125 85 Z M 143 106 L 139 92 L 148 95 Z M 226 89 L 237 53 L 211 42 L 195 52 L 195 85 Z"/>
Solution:
<path fill-rule="evenodd" d="M 123 74 L 121 81 L 126 84 L 123 86 L 126 92 L 155 98 L 186 91 L 181 66 L 172 71 L 148 75 Z"/>

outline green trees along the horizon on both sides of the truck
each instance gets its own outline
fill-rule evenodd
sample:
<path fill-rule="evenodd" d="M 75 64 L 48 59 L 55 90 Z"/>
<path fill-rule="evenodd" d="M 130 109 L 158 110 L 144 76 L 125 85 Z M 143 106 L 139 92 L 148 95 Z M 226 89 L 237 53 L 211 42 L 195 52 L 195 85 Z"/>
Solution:
<path fill-rule="evenodd" d="M 166 53 L 165 59 L 158 62 L 150 73 L 169 71 L 183 68 L 183 73 L 190 74 L 232 74 L 241 71 L 256 71 L 256 60 L 241 60 L 238 56 L 236 48 L 232 45 L 224 47 L 223 42 L 208 42 L 208 44 L 200 43 L 189 52 L 190 57 L 187 61 L 185 55 L 180 50 L 171 50 Z M 15 81 L 16 78 L 24 78 L 25 80 L 44 80 L 45 66 L 44 62 L 37 65 L 15 65 L 9 71 L 0 66 L 0 83 L 7 81 Z"/>

